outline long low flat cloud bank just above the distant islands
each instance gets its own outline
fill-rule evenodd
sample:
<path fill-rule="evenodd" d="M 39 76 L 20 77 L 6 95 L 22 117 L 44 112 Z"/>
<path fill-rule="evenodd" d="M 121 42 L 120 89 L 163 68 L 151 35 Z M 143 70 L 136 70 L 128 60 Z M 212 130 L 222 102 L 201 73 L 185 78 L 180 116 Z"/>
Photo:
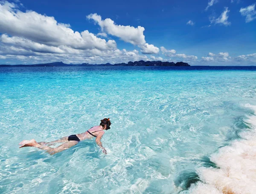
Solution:
<path fill-rule="evenodd" d="M 0 56 L 6 57 L 6 59 L 18 59 L 20 61 L 29 62 L 29 64 L 45 63 L 45 62 L 56 62 L 63 61 L 64 63 L 91 63 L 101 64 L 110 62 L 120 63 L 129 61 L 149 60 L 147 56 L 140 55 L 139 51 L 126 51 L 124 50 L 109 50 L 100 51 L 98 49 L 92 50 L 75 50 L 66 53 L 39 53 L 32 52 L 23 48 L 16 48 L 14 46 L 3 46 L 0 47 Z M 22 56 L 22 57 L 20 57 Z"/>

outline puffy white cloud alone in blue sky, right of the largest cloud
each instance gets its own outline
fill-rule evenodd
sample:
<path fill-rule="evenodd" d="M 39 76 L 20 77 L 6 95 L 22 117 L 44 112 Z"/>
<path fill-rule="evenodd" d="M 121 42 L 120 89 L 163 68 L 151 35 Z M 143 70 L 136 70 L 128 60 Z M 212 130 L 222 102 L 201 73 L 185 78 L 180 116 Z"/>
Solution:
<path fill-rule="evenodd" d="M 110 18 L 102 20 L 102 17 L 98 14 L 87 15 L 87 18 L 94 20 L 101 27 L 102 32 L 119 37 L 125 42 L 129 42 L 133 45 L 144 45 L 146 43 L 143 34 L 145 28 L 142 26 L 134 28 L 130 25 L 116 25 Z"/>

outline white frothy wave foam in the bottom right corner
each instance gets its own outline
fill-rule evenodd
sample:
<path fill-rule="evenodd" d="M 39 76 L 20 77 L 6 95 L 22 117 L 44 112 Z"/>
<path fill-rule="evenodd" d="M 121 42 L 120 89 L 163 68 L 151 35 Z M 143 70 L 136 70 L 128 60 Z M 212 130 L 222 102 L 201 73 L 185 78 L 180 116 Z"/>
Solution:
<path fill-rule="evenodd" d="M 256 106 L 246 104 L 256 112 Z M 252 127 L 244 140 L 233 141 L 212 154 L 210 160 L 219 169 L 201 167 L 197 170 L 204 183 L 189 189 L 190 194 L 256 194 L 256 116 L 246 121 Z"/>

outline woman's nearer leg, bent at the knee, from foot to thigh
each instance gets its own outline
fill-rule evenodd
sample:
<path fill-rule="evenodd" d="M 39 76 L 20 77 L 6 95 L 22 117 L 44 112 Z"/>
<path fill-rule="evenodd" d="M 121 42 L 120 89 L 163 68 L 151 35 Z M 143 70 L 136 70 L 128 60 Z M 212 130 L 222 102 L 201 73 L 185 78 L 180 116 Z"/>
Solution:
<path fill-rule="evenodd" d="M 58 152 L 61 152 L 63 151 L 64 149 L 68 149 L 72 146 L 75 146 L 76 144 L 78 143 L 78 141 L 68 141 L 67 143 L 63 143 L 61 144 L 60 146 L 56 147 L 56 148 L 51 148 L 49 146 L 41 146 L 39 143 L 37 143 L 35 141 L 35 139 L 32 139 L 32 140 L 23 140 L 19 143 L 20 148 L 22 147 L 36 147 L 38 149 L 43 149 L 43 150 L 46 150 L 50 155 L 54 155 Z"/>

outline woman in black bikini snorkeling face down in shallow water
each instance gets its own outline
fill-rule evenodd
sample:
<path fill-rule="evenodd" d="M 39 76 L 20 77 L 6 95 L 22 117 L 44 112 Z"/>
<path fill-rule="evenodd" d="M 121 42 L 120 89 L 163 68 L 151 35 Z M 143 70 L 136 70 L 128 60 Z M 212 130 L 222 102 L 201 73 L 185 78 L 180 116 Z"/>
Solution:
<path fill-rule="evenodd" d="M 45 142 L 37 143 L 35 141 L 35 139 L 23 140 L 19 143 L 19 145 L 21 145 L 20 148 L 22 148 L 22 147 L 36 147 L 36 148 L 39 148 L 39 149 L 47 150 L 47 152 L 49 152 L 50 155 L 54 155 L 58 152 L 63 151 L 64 149 L 68 149 L 68 148 L 76 145 L 77 143 L 79 143 L 79 141 L 96 137 L 96 143 L 102 149 L 102 152 L 104 154 L 107 154 L 107 151 L 102 146 L 102 143 L 101 143 L 100 140 L 101 140 L 102 136 L 105 133 L 104 130 L 110 129 L 110 127 L 109 127 L 110 125 L 111 125 L 111 122 L 110 122 L 109 118 L 104 118 L 103 120 L 101 120 L 101 123 L 99 124 L 99 126 L 92 127 L 84 133 L 80 133 L 80 134 L 76 134 L 76 135 L 70 135 L 68 137 L 64 137 L 64 138 L 61 138 L 59 140 L 52 141 L 52 142 L 49 142 L 49 143 L 45 143 Z M 55 144 L 55 143 L 63 143 L 63 144 L 61 144 L 60 146 L 58 146 L 56 148 L 51 148 L 49 146 L 46 146 L 47 144 L 52 145 L 52 144 Z"/>

